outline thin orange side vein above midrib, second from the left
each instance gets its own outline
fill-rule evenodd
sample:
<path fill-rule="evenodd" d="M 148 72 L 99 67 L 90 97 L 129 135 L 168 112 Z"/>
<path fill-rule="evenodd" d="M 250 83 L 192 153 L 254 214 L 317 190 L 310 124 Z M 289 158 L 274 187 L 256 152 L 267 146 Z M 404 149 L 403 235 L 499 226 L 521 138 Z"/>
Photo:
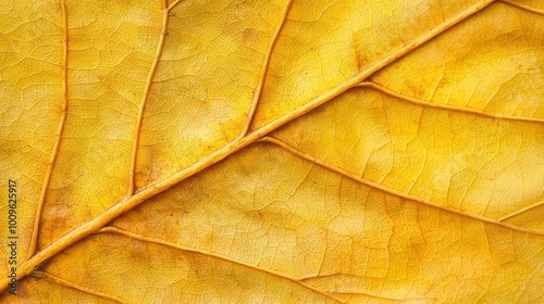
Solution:
<path fill-rule="evenodd" d="M 177 3 L 177 2 L 176 2 Z M 176 4 L 174 3 L 174 4 Z M 141 124 L 144 122 L 144 111 L 146 110 L 146 103 L 149 100 L 149 91 L 151 89 L 151 84 L 154 78 L 154 74 L 157 73 L 157 66 L 159 65 L 159 60 L 162 55 L 162 50 L 164 47 L 164 39 L 166 36 L 166 30 L 168 30 L 168 23 L 169 23 L 169 9 L 166 8 L 166 1 L 162 1 L 162 27 L 161 27 L 161 36 L 159 38 L 159 43 L 157 45 L 157 51 L 154 54 L 153 63 L 151 65 L 151 68 L 149 71 L 149 75 L 147 77 L 147 83 L 146 83 L 146 89 L 144 91 L 144 97 L 141 99 L 141 103 L 139 106 L 139 113 L 136 122 L 136 134 L 135 134 L 135 139 L 134 139 L 134 145 L 133 145 L 133 155 L 132 155 L 132 163 L 131 163 L 131 172 L 129 172 L 129 185 L 128 185 L 128 192 L 127 197 L 131 197 L 134 194 L 134 191 L 136 189 L 136 166 L 137 166 L 137 159 L 138 159 L 138 144 L 139 144 L 139 138 L 141 135 Z"/>

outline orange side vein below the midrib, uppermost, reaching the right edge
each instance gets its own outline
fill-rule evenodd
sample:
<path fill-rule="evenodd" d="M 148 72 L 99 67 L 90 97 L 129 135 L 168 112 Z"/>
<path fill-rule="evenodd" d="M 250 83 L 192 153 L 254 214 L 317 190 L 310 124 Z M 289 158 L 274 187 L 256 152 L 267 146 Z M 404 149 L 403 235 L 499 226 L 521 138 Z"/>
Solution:
<path fill-rule="evenodd" d="M 359 85 L 357 85 L 359 88 L 371 88 L 378 91 L 381 91 L 385 94 L 388 94 L 391 97 L 395 97 L 415 104 L 423 105 L 426 107 L 435 107 L 435 109 L 442 109 L 442 110 L 448 110 L 448 111 L 455 111 L 455 112 L 461 112 L 461 113 L 470 113 L 470 114 L 475 114 L 484 117 L 491 117 L 491 118 L 499 118 L 499 119 L 508 119 L 508 121 L 518 121 L 518 122 L 531 122 L 531 123 L 544 123 L 544 119 L 542 118 L 534 118 L 534 117 L 524 117 L 524 116 L 511 116 L 511 115 L 503 115 L 503 114 L 494 114 L 494 113 L 489 113 L 489 112 L 483 112 L 480 110 L 475 109 L 469 109 L 469 107 L 459 107 L 455 105 L 448 105 L 448 104 L 438 104 L 438 103 L 433 103 L 430 101 L 424 101 L 420 99 L 416 99 L 412 97 L 404 96 L 398 92 L 392 91 L 387 89 L 386 87 L 383 87 L 376 83 L 372 81 L 362 81 Z"/>

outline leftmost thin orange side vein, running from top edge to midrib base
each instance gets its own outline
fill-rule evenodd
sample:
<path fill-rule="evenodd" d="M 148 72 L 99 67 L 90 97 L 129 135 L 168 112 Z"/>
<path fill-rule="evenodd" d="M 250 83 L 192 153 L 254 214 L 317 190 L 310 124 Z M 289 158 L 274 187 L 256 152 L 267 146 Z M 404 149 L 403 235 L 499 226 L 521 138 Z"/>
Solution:
<path fill-rule="evenodd" d="M 62 63 L 62 72 L 63 72 L 63 104 L 61 110 L 61 118 L 59 121 L 59 127 L 57 128 L 57 141 L 54 142 L 53 150 L 51 151 L 51 160 L 47 166 L 46 178 L 41 186 L 41 192 L 39 197 L 38 204 L 36 206 L 36 213 L 34 215 L 34 228 L 33 235 L 30 237 L 30 243 L 28 244 L 28 252 L 25 259 L 28 259 L 36 253 L 36 249 L 38 246 L 38 231 L 39 224 L 41 219 L 41 211 L 44 208 L 44 203 L 46 201 L 47 189 L 49 188 L 49 183 L 51 181 L 51 174 L 53 172 L 54 164 L 57 163 L 57 156 L 59 155 L 59 148 L 61 145 L 62 134 L 64 131 L 64 125 L 67 116 L 67 56 L 69 56 L 69 28 L 67 28 L 67 12 L 66 12 L 66 3 L 65 0 L 61 0 L 61 9 L 62 9 L 62 22 L 64 26 L 63 33 L 63 63 Z"/>

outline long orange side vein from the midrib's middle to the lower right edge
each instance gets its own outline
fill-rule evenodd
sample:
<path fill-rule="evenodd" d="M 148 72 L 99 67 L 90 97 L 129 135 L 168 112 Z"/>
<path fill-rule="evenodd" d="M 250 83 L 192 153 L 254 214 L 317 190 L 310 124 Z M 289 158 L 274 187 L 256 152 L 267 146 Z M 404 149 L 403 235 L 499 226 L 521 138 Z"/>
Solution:
<path fill-rule="evenodd" d="M 454 213 L 454 214 L 457 214 L 457 215 L 461 215 L 461 216 L 466 216 L 466 217 L 470 217 L 470 218 L 474 218 L 474 219 L 479 219 L 479 220 L 482 220 L 482 221 L 485 221 L 485 223 L 491 223 L 491 224 L 495 224 L 495 225 L 499 225 L 499 226 L 503 226 L 503 227 L 506 227 L 508 229 L 511 229 L 511 230 L 515 230 L 515 231 L 520 231 L 520 232 L 526 232 L 526 233 L 532 233 L 532 235 L 537 235 L 537 236 L 544 236 L 544 231 L 540 231 L 540 230 L 536 230 L 536 229 L 531 229 L 531 228 L 526 228 L 526 227 L 520 227 L 520 226 L 517 226 L 517 225 L 511 225 L 511 224 L 507 224 L 507 223 L 503 223 L 496 218 L 491 218 L 491 217 L 486 217 L 486 216 L 483 216 L 483 215 L 479 215 L 479 214 L 474 214 L 474 213 L 470 213 L 470 212 L 466 212 L 466 211 L 460 211 L 460 210 L 456 210 L 456 208 L 453 208 L 453 207 L 449 207 L 449 206 L 446 206 L 446 205 L 442 205 L 442 204 L 438 204 L 438 203 L 435 203 L 435 202 L 431 202 L 431 201 L 426 201 L 426 200 L 423 200 L 419 197 L 416 197 L 416 195 L 412 195 L 412 194 L 408 194 L 406 192 L 403 192 L 403 191 L 398 191 L 396 189 L 392 189 L 392 188 L 388 188 L 386 186 L 383 186 L 383 185 L 380 185 L 375 181 L 372 181 L 372 180 L 369 180 L 369 179 L 366 179 L 366 178 L 362 178 L 360 176 L 357 176 L 350 172 L 347 172 L 345 169 L 342 169 L 342 168 L 338 168 L 336 166 L 333 166 L 329 163 L 325 163 L 321 160 L 318 160 L 309 154 L 306 154 L 305 152 L 301 152 L 293 147 L 290 147 L 289 144 L 287 144 L 286 142 L 277 139 L 277 138 L 274 138 L 274 137 L 263 137 L 261 138 L 259 141 L 263 141 L 263 142 L 270 142 L 270 143 L 273 143 L 273 144 L 276 144 L 277 147 L 281 147 L 282 149 L 286 150 L 287 152 L 292 153 L 293 155 L 297 155 L 301 159 L 305 159 L 311 163 L 314 163 L 323 168 L 326 168 L 326 169 L 330 169 L 332 172 L 335 172 L 342 176 L 345 176 L 349 179 L 353 179 L 357 182 L 360 182 L 360 183 L 363 183 L 368 187 L 371 187 L 371 188 L 374 188 L 374 189 L 378 189 L 378 190 L 381 190 L 383 192 L 386 192 L 388 194 L 392 194 L 392 195 L 395 195 L 397 198 L 400 198 L 400 199 L 405 199 L 405 200 L 410 200 L 410 201 L 413 201 L 413 202 L 418 202 L 418 203 L 421 203 L 421 204 L 424 204 L 424 205 L 429 205 L 429 206 L 432 206 L 432 207 L 437 207 L 437 208 L 441 208 L 443 211 L 446 211 L 446 212 L 449 212 L 449 213 Z"/>

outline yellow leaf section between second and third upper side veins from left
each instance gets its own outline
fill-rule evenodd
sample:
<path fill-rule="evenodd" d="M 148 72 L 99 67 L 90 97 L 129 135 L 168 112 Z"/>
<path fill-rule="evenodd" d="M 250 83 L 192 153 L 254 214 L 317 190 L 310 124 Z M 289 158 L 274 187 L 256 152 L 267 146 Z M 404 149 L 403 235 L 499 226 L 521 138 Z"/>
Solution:
<path fill-rule="evenodd" d="M 242 134 L 286 1 L 180 2 L 144 114 L 137 187 Z"/>

